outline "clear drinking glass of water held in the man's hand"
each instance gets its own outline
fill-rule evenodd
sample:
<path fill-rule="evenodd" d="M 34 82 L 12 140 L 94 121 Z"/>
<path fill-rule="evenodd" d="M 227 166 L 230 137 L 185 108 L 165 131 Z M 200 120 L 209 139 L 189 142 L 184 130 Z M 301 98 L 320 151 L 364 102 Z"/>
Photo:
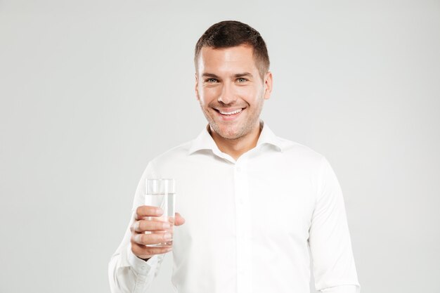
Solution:
<path fill-rule="evenodd" d="M 160 207 L 164 213 L 162 216 L 150 217 L 153 221 L 169 222 L 168 230 L 152 231 L 150 233 L 171 233 L 174 230 L 174 202 L 176 200 L 176 184 L 174 179 L 146 179 L 145 181 L 145 205 Z M 148 233 L 148 232 L 147 232 Z M 167 247 L 173 244 L 173 237 L 167 242 L 147 245 L 150 247 Z"/>

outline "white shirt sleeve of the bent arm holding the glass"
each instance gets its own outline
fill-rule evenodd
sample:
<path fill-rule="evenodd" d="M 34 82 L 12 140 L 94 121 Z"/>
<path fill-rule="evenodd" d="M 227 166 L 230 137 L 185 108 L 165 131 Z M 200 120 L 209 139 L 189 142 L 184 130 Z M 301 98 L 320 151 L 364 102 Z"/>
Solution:
<path fill-rule="evenodd" d="M 150 287 L 153 279 L 159 273 L 160 265 L 164 259 L 164 254 L 156 254 L 148 259 L 148 261 L 144 261 L 131 252 L 130 226 L 134 221 L 136 208 L 145 204 L 143 200 L 143 195 L 145 194 L 145 178 L 153 177 L 153 168 L 151 164 L 148 164 L 136 188 L 129 226 L 125 231 L 121 244 L 112 255 L 108 264 L 108 278 L 112 293 L 146 292 L 146 289 Z"/>

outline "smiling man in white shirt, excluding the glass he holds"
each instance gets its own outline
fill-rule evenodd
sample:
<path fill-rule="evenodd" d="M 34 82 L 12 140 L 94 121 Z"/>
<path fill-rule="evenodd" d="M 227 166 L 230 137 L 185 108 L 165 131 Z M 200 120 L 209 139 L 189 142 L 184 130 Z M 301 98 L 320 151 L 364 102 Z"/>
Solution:
<path fill-rule="evenodd" d="M 236 21 L 195 46 L 195 95 L 208 125 L 145 169 L 134 216 L 109 265 L 112 292 L 145 292 L 171 249 L 145 178 L 175 178 L 172 283 L 181 293 L 359 292 L 342 192 L 322 155 L 278 138 L 259 119 L 272 74 L 259 32 Z"/>

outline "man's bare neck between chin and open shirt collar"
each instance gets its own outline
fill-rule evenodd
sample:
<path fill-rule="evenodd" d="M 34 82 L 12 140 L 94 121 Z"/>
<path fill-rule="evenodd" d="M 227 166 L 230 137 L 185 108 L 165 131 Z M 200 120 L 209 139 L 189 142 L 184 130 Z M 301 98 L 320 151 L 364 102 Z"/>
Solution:
<path fill-rule="evenodd" d="M 216 134 L 215 131 L 212 131 L 211 127 L 209 127 L 209 134 L 214 139 L 217 147 L 221 152 L 224 152 L 235 160 L 237 160 L 242 154 L 247 152 L 248 150 L 252 150 L 257 145 L 258 138 L 261 133 L 261 125 L 258 123 L 254 126 L 252 131 L 245 136 L 241 136 L 236 139 L 227 139 Z"/>

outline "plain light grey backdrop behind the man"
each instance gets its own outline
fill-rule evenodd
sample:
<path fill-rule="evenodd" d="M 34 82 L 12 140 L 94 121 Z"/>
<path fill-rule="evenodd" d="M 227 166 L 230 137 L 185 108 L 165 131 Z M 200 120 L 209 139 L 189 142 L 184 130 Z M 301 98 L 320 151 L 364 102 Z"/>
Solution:
<path fill-rule="evenodd" d="M 266 123 L 335 169 L 362 292 L 439 289 L 439 1 L 0 0 L 0 292 L 109 291 L 148 160 L 206 124 L 195 43 L 229 19 L 266 40 Z"/>

